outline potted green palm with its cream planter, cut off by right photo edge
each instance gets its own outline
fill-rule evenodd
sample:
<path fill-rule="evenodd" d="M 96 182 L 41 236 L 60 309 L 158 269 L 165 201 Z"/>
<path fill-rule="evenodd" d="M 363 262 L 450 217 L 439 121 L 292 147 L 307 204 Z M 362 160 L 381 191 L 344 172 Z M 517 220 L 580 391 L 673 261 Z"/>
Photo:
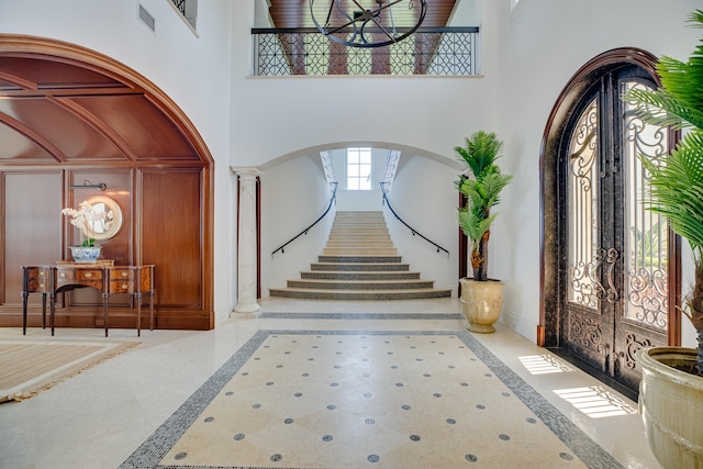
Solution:
<path fill-rule="evenodd" d="M 703 11 L 690 21 L 703 26 Z M 698 349 L 651 347 L 637 353 L 643 369 L 639 410 L 652 453 L 665 468 L 703 467 L 703 42 L 688 62 L 662 56 L 661 87 L 633 89 L 623 99 L 645 122 L 685 130 L 661 165 L 640 157 L 650 174 L 652 211 L 693 250 L 695 280 L 683 313 L 698 334 Z"/>

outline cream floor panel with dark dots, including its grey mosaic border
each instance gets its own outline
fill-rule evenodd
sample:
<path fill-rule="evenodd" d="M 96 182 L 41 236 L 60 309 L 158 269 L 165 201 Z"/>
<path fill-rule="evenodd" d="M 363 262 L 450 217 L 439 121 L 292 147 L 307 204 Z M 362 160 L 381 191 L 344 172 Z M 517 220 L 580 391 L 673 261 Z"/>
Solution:
<path fill-rule="evenodd" d="M 121 468 L 622 468 L 464 331 L 259 331 Z"/>

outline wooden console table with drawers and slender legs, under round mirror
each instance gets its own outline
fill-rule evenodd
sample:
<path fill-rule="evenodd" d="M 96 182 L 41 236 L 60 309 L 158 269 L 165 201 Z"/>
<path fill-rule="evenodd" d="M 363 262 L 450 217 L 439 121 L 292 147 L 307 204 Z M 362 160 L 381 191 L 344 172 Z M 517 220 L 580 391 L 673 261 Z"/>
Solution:
<path fill-rule="evenodd" d="M 136 333 L 142 335 L 142 297 L 149 297 L 149 328 L 154 331 L 154 266 L 113 266 L 60 261 L 53 266 L 22 266 L 22 334 L 26 334 L 26 308 L 30 293 L 42 293 L 42 326 L 46 327 L 46 298 L 49 302 L 54 335 L 56 293 L 77 288 L 94 288 L 102 294 L 105 337 L 110 316 L 110 295 L 126 293 L 136 299 Z"/>

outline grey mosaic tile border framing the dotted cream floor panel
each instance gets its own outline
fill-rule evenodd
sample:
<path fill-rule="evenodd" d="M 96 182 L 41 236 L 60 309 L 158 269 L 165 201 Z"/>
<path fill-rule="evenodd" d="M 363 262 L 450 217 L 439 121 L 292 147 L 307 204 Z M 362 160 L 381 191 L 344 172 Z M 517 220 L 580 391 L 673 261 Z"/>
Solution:
<path fill-rule="evenodd" d="M 503 364 L 495 355 L 465 331 L 258 331 L 203 386 L 200 387 L 154 434 L 121 466 L 121 469 L 247 469 L 239 466 L 159 466 L 159 461 L 180 439 L 232 377 L 256 353 L 269 335 L 454 335 L 469 347 L 483 364 L 591 469 L 617 469 L 623 466 L 553 404 Z M 264 467 L 248 469 L 267 469 Z M 280 468 L 279 468 L 280 469 Z"/>

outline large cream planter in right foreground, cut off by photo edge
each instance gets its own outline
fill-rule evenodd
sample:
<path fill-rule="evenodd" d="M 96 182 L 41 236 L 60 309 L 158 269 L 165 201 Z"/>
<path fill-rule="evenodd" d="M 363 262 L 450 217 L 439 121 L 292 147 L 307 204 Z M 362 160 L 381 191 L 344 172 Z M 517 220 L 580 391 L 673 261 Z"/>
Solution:
<path fill-rule="evenodd" d="M 703 468 L 703 377 L 677 369 L 691 369 L 695 361 L 693 348 L 652 347 L 637 353 L 645 436 L 666 469 Z"/>

